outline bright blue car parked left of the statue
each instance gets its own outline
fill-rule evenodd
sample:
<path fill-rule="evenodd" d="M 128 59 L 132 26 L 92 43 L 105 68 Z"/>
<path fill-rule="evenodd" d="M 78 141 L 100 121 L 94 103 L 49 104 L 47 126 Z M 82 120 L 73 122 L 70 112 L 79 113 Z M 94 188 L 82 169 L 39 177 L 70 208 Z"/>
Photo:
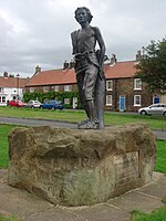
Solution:
<path fill-rule="evenodd" d="M 46 101 L 45 103 L 42 103 L 40 105 L 40 108 L 63 109 L 64 105 L 60 101 L 58 101 L 58 99 L 51 99 L 51 101 Z"/>

